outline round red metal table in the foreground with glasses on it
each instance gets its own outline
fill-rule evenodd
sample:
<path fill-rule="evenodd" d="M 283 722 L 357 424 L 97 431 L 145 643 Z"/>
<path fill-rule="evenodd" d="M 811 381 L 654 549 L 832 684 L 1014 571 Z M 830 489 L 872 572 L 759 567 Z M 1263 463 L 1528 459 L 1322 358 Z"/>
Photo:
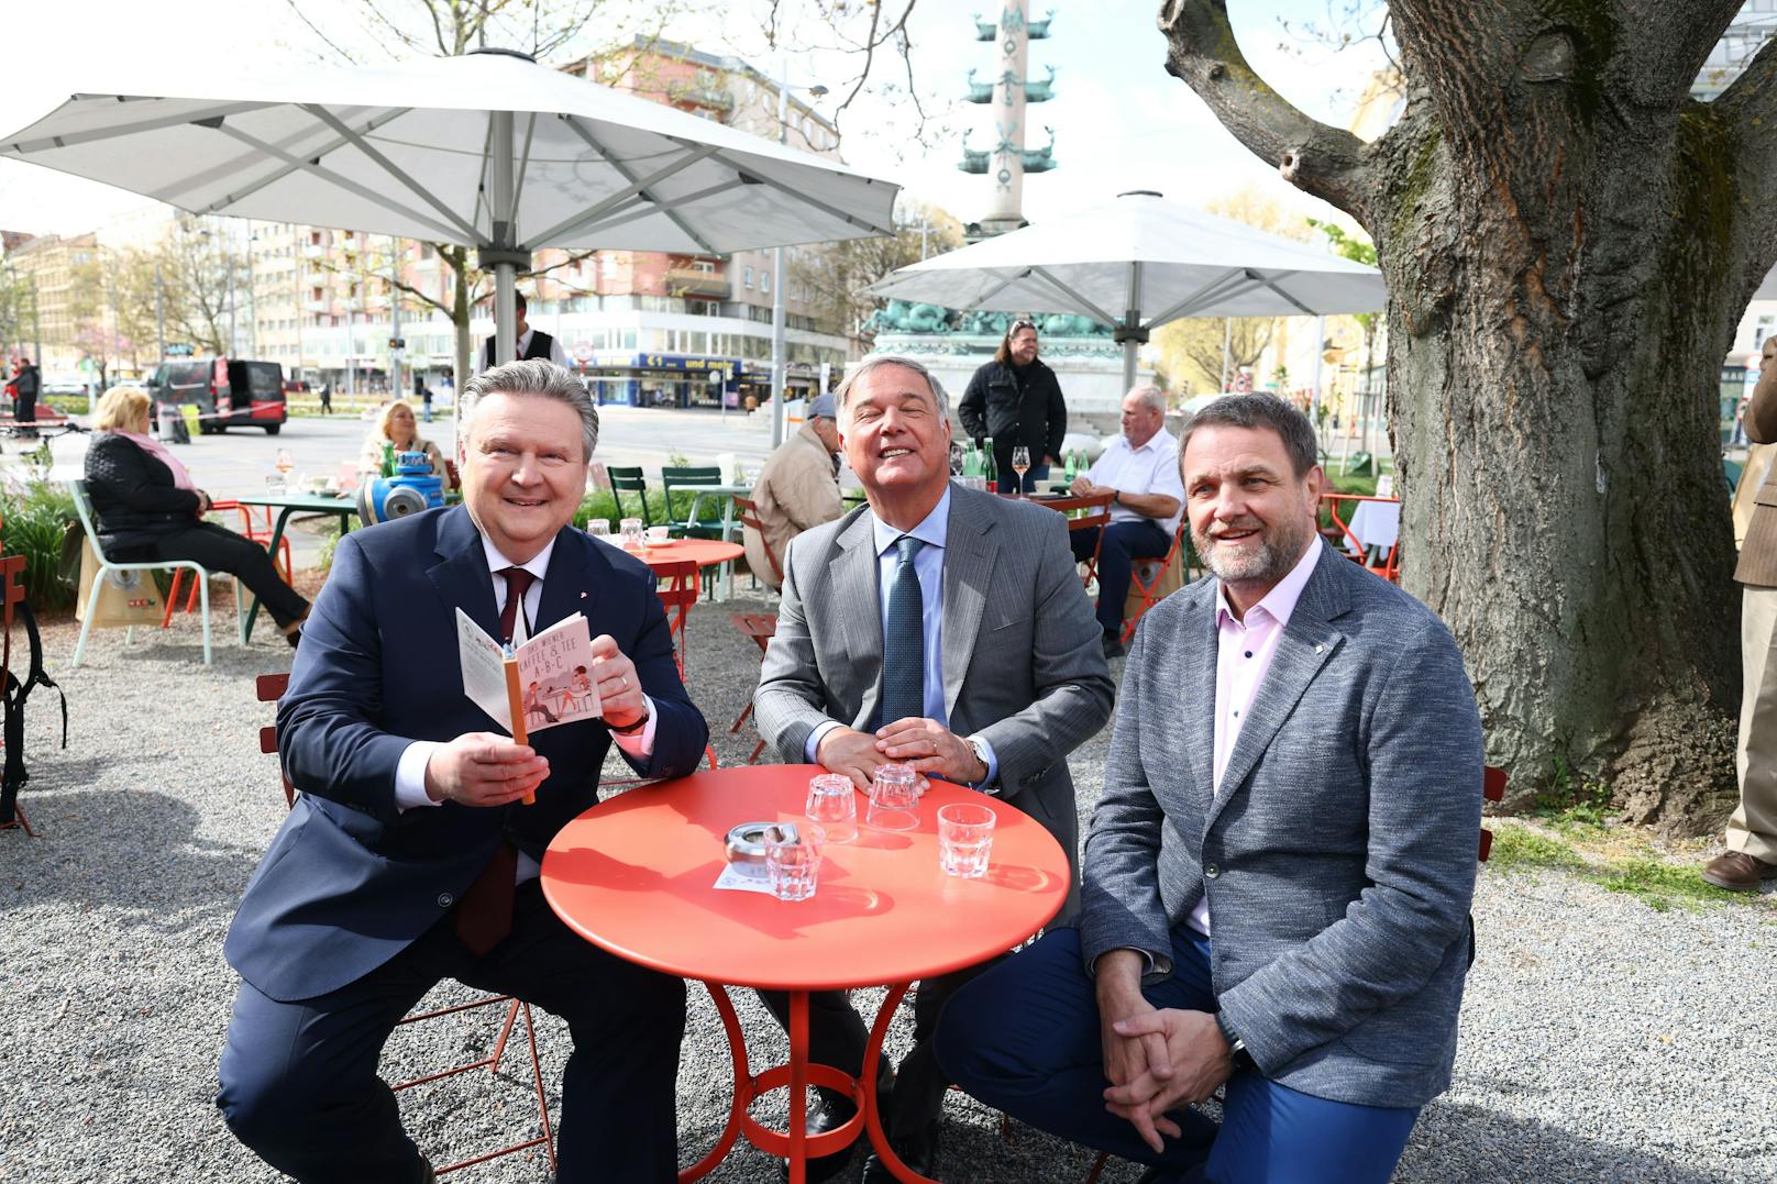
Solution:
<path fill-rule="evenodd" d="M 814 900 L 718 891 L 729 828 L 803 818 L 809 779 L 819 772 L 761 764 L 631 789 L 563 827 L 544 855 L 544 898 L 569 928 L 629 962 L 700 980 L 721 1013 L 734 1056 L 734 1106 L 716 1147 L 681 1180 L 713 1172 L 736 1136 L 746 1134 L 761 1150 L 789 1159 L 791 1184 L 803 1184 L 807 1157 L 837 1152 L 862 1131 L 896 1179 L 924 1180 L 888 1148 L 876 1106 L 876 1065 L 896 1004 L 915 980 L 1006 953 L 1066 900 L 1068 859 L 1040 823 L 942 780 L 920 798 L 915 830 L 873 830 L 864 823 L 869 804 L 858 795 L 858 837 L 825 848 Z M 999 816 L 981 880 L 938 868 L 938 807 L 949 802 L 986 802 Z M 809 992 L 885 983 L 890 990 L 871 1028 L 864 1076 L 810 1065 Z M 789 992 L 789 1065 L 752 1074 L 723 985 Z M 809 1136 L 809 1084 L 849 1093 L 858 1113 Z M 746 1113 L 753 1099 L 784 1086 L 787 1132 Z"/>

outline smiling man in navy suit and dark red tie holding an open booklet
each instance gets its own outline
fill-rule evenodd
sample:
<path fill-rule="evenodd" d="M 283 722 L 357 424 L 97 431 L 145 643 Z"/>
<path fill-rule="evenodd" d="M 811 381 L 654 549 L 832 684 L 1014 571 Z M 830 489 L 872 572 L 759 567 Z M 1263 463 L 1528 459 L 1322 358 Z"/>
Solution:
<path fill-rule="evenodd" d="M 570 526 L 599 414 L 547 361 L 464 388 L 464 505 L 347 535 L 277 709 L 300 789 L 242 898 L 217 1106 L 304 1182 L 432 1179 L 377 1058 L 439 980 L 569 1024 L 560 1180 L 672 1180 L 684 983 L 574 935 L 538 889 L 549 839 L 597 800 L 611 743 L 643 777 L 709 738 L 647 567 Z M 522 638 L 583 613 L 602 720 L 515 745 L 462 692 L 457 610 Z M 535 804 L 519 802 L 535 791 Z"/>

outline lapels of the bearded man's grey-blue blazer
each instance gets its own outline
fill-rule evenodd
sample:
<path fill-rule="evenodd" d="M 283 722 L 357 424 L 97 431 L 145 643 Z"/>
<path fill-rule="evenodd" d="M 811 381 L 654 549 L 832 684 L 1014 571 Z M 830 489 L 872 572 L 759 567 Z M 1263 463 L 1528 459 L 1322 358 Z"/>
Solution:
<path fill-rule="evenodd" d="M 1271 658 L 1271 668 L 1265 670 L 1265 681 L 1260 684 L 1246 724 L 1240 727 L 1240 738 L 1235 741 L 1233 752 L 1228 754 L 1221 793 L 1215 795 L 1215 802 L 1210 805 L 1205 818 L 1205 830 L 1215 825 L 1215 816 L 1221 814 L 1230 798 L 1244 789 L 1246 779 L 1260 757 L 1265 756 L 1285 720 L 1295 711 L 1295 704 L 1301 702 L 1308 684 L 1315 681 L 1315 676 L 1333 660 L 1335 651 L 1343 642 L 1343 635 L 1329 624 L 1331 619 L 1349 608 L 1343 588 L 1338 587 L 1335 572 L 1329 571 L 1331 564 L 1343 562 L 1347 560 L 1322 548 L 1320 560 L 1315 564 L 1315 571 L 1308 578 L 1301 599 L 1295 603 L 1295 612 L 1290 613 L 1290 624 L 1283 628 L 1283 636 L 1278 638 L 1278 652 Z M 1212 636 L 1210 688 L 1215 686 L 1214 663 L 1215 642 Z M 1212 704 L 1210 711 L 1214 709 Z M 1214 729 L 1214 720 L 1210 724 Z M 1214 745 L 1214 731 L 1210 736 L 1210 743 Z"/>

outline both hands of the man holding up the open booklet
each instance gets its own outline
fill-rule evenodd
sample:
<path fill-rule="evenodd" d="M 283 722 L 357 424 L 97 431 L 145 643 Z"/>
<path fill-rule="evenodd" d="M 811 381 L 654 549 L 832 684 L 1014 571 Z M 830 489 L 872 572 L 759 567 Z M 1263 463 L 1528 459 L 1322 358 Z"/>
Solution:
<path fill-rule="evenodd" d="M 636 663 L 610 633 L 592 638 L 594 676 L 604 722 L 629 727 L 643 716 L 641 679 Z M 462 805 L 508 805 L 549 777 L 549 759 L 530 745 L 499 732 L 466 732 L 432 750 L 426 761 L 426 796 Z"/>

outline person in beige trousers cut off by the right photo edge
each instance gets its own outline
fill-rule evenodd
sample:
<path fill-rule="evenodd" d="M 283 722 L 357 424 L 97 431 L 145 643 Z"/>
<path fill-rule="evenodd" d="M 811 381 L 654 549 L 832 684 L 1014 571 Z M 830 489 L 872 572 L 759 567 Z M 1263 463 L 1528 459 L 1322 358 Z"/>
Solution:
<path fill-rule="evenodd" d="M 1765 341 L 1759 384 L 1745 414 L 1747 437 L 1777 441 L 1777 338 Z M 1756 480 L 1749 469 L 1747 478 Z M 1740 548 L 1740 809 L 1727 820 L 1727 852 L 1702 878 L 1756 892 L 1777 878 L 1777 466 L 1752 494 L 1752 524 Z"/>

